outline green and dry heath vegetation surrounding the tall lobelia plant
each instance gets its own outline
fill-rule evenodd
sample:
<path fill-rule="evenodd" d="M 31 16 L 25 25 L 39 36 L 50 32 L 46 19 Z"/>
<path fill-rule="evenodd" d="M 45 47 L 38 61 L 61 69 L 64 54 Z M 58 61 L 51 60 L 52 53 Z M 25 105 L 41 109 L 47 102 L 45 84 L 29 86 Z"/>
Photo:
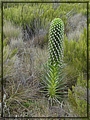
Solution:
<path fill-rule="evenodd" d="M 87 97 L 87 86 L 90 91 L 90 81 L 87 81 L 87 61 L 90 63 L 87 59 L 90 57 L 87 3 L 68 3 L 68 0 L 66 3 L 39 1 L 41 3 L 3 3 L 3 115 L 73 117 L 72 120 L 74 117 L 87 117 L 87 105 L 90 106 L 90 94 Z M 43 65 L 48 60 L 48 31 L 51 21 L 57 17 L 61 18 L 65 25 L 63 46 L 67 98 L 50 106 L 48 97 L 40 91 L 42 75 L 45 74 Z M 90 29 L 90 9 L 88 22 Z M 0 47 L 1 45 L 0 37 Z M 0 64 L 1 55 L 0 52 Z M 2 75 L 0 80 L 1 77 Z M 88 115 L 90 116 L 90 112 Z M 90 118 L 85 120 L 88 119 Z"/>

